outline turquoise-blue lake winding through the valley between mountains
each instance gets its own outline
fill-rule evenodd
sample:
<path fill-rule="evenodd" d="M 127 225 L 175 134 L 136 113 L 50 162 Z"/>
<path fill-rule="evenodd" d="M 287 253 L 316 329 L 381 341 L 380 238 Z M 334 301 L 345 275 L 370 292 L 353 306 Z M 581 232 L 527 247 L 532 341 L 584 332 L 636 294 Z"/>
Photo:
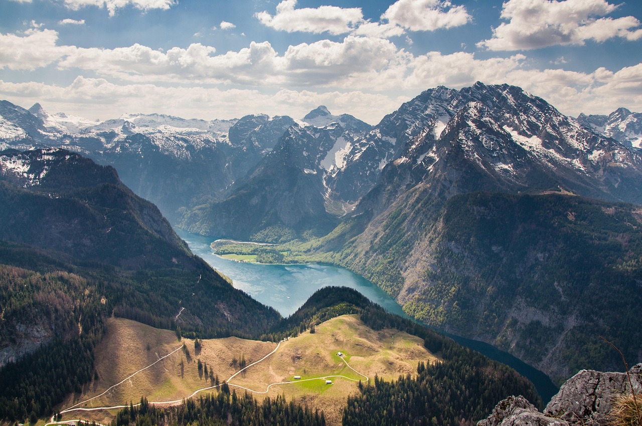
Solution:
<path fill-rule="evenodd" d="M 328 285 L 343 285 L 355 289 L 374 303 L 392 314 L 410 318 L 401 305 L 388 293 L 377 287 L 366 278 L 356 275 L 347 269 L 322 264 L 304 265 L 267 265 L 250 262 L 236 262 L 223 259 L 214 254 L 209 244 L 213 237 L 190 234 L 177 230 L 177 234 L 186 241 L 193 253 L 209 263 L 212 268 L 232 278 L 234 287 L 245 291 L 259 302 L 271 306 L 282 316 L 290 316 L 315 291 Z M 546 404 L 555 393 L 557 386 L 542 371 L 539 371 L 513 355 L 498 350 L 494 346 L 480 341 L 447 334 L 460 345 L 474 349 L 487 357 L 503 362 L 528 377 Z"/>

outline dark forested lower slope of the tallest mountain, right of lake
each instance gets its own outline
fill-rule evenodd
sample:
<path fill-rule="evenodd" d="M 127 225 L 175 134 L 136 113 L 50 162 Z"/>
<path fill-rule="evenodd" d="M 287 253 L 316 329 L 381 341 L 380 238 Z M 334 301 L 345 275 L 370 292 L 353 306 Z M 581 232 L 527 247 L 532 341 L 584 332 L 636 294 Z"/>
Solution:
<path fill-rule="evenodd" d="M 436 216 L 422 187 L 339 248 L 340 262 L 426 323 L 507 350 L 555 379 L 642 357 L 641 210 L 560 194 L 471 192 Z M 336 261 L 336 260 L 335 260 Z"/>

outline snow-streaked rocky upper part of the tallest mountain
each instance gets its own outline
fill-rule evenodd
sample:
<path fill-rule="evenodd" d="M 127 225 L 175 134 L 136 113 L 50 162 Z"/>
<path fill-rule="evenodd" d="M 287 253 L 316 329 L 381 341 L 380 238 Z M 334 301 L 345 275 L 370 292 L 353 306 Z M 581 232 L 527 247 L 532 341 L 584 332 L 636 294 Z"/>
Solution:
<path fill-rule="evenodd" d="M 642 151 L 587 130 L 519 87 L 476 83 L 459 92 L 427 90 L 420 98 L 429 111 L 458 109 L 434 114 L 446 118 L 428 121 L 388 163 L 361 210 L 381 212 L 415 185 L 437 205 L 480 190 L 562 190 L 642 203 Z"/>

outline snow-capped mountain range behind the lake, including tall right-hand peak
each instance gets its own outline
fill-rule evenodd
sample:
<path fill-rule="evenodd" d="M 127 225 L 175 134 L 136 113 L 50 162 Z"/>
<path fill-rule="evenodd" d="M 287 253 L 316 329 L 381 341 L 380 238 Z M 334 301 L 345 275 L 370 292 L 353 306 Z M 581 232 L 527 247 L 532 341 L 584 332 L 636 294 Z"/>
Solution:
<path fill-rule="evenodd" d="M 63 146 L 114 166 L 191 232 L 293 241 L 286 261 L 352 269 L 415 318 L 558 381 L 614 368 L 598 333 L 642 357 L 641 115 L 625 108 L 575 119 L 478 82 L 426 90 L 375 126 L 325 107 L 90 123 L 3 101 L 0 115 L 2 148 Z"/>

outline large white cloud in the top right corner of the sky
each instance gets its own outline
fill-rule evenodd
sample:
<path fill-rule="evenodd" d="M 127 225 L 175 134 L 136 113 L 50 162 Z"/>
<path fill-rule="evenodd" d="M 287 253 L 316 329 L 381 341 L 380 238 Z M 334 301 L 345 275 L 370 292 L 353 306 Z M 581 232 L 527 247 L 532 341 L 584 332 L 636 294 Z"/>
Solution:
<path fill-rule="evenodd" d="M 638 40 L 638 19 L 607 18 L 617 6 L 606 0 L 508 0 L 503 4 L 502 22 L 492 38 L 477 44 L 489 50 L 539 49 L 556 44 L 603 42 L 613 37 Z"/>

